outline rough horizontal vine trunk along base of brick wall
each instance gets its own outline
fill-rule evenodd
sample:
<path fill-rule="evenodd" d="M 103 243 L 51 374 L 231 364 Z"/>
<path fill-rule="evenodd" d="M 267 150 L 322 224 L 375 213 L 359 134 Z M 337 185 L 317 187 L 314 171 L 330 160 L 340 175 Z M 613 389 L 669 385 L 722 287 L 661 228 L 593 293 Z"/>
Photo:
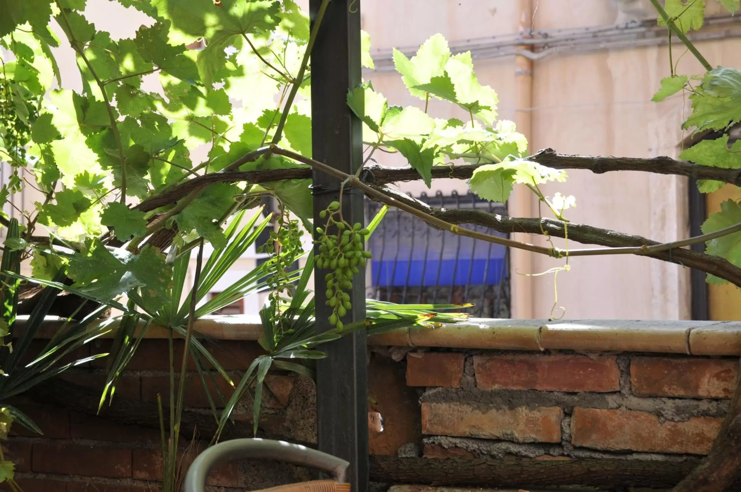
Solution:
<path fill-rule="evenodd" d="M 466 485 L 473 487 L 670 488 L 700 464 L 700 459 L 425 459 L 371 456 L 371 479 L 385 483 Z M 741 490 L 741 482 L 733 490 Z M 688 489 L 689 490 L 689 489 Z"/>

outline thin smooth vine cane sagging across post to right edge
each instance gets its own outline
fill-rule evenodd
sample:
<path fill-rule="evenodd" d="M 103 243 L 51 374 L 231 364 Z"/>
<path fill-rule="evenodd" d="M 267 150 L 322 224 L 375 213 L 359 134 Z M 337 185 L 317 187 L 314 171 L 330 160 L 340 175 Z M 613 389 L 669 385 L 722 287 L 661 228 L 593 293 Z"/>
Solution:
<path fill-rule="evenodd" d="M 427 222 L 430 225 L 439 227 L 440 229 L 443 229 L 443 230 L 448 230 L 453 234 L 458 234 L 459 236 L 471 237 L 473 239 L 481 239 L 482 241 L 493 242 L 498 245 L 516 247 L 518 249 L 531 251 L 533 253 L 540 253 L 546 256 L 553 256 L 554 258 L 563 258 L 567 256 L 601 256 L 601 255 L 615 255 L 615 254 L 634 254 L 634 255 L 643 256 L 643 255 L 649 255 L 653 253 L 660 253 L 662 251 L 677 249 L 679 247 L 694 245 L 694 244 L 698 244 L 702 242 L 708 242 L 711 239 L 717 239 L 722 236 L 727 236 L 728 234 L 741 232 L 741 222 L 740 222 L 738 224 L 731 225 L 730 227 L 724 227 L 720 230 L 716 230 L 713 233 L 702 234 L 701 236 L 694 236 L 688 239 L 681 239 L 679 241 L 674 241 L 674 242 L 665 242 L 659 245 L 651 245 L 651 246 L 643 245 L 643 246 L 638 246 L 638 247 L 599 247 L 599 248 L 585 248 L 585 249 L 578 249 L 578 250 L 562 250 L 556 247 L 548 248 L 548 247 L 542 247 L 542 246 L 537 246 L 537 245 L 531 245 L 525 242 L 514 241 L 512 239 L 505 239 L 499 236 L 492 236 L 491 234 L 479 233 L 476 230 L 469 230 L 469 229 L 466 229 L 465 227 L 459 227 L 457 225 L 451 224 L 450 222 L 445 222 L 444 220 L 439 219 L 435 216 L 431 216 L 430 214 L 425 213 L 422 210 L 418 210 L 415 207 L 412 207 L 411 205 L 408 205 L 404 202 L 400 202 L 399 200 L 394 199 L 393 196 L 389 196 L 386 193 L 383 193 L 382 191 L 379 191 L 374 187 L 366 185 L 364 182 L 360 181 L 360 179 L 356 178 L 356 176 L 345 173 L 341 170 L 337 170 L 323 162 L 319 162 L 314 159 L 310 159 L 308 157 L 302 156 L 299 153 L 295 153 L 290 150 L 282 149 L 281 147 L 278 147 L 277 145 L 269 145 L 267 147 L 262 147 L 261 149 L 256 150 L 254 153 L 260 154 L 260 155 L 264 155 L 267 153 L 277 154 L 279 156 L 288 157 L 289 159 L 293 159 L 295 161 L 308 164 L 311 167 L 314 167 L 318 170 L 321 170 L 324 173 L 329 174 L 330 176 L 335 176 L 337 179 L 342 179 L 343 181 L 347 181 L 348 184 L 358 188 L 359 190 L 362 190 L 363 193 L 365 193 L 366 195 L 370 196 L 372 199 L 375 199 L 378 202 L 381 202 L 385 205 L 389 205 L 391 207 L 399 208 L 399 210 L 404 210 L 405 212 L 410 213 L 413 216 L 416 216 L 418 219 L 422 219 L 423 221 Z"/>

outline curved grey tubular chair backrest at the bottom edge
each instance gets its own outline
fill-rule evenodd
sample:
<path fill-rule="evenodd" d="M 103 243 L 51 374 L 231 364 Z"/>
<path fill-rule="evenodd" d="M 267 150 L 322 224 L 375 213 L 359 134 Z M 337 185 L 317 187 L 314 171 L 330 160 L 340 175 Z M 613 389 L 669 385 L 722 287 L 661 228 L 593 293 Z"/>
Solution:
<path fill-rule="evenodd" d="M 184 492 L 205 492 L 206 478 L 214 466 L 235 459 L 274 459 L 293 465 L 332 473 L 336 482 L 345 481 L 349 462 L 322 451 L 270 439 L 232 439 L 200 453 L 185 476 Z"/>

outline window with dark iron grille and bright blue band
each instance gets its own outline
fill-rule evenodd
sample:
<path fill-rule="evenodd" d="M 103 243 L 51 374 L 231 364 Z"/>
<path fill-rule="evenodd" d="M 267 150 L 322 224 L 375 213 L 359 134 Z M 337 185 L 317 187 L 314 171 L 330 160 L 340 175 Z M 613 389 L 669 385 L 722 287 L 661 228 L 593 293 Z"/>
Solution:
<path fill-rule="evenodd" d="M 504 205 L 471 193 L 422 193 L 419 199 L 432 207 L 507 211 Z M 369 221 L 381 206 L 366 204 Z M 507 237 L 486 227 L 466 227 Z M 368 240 L 368 247 L 373 253 L 368 295 L 373 299 L 403 304 L 471 302 L 474 306 L 468 312 L 474 316 L 510 316 L 509 251 L 505 246 L 439 230 L 391 208 Z"/>

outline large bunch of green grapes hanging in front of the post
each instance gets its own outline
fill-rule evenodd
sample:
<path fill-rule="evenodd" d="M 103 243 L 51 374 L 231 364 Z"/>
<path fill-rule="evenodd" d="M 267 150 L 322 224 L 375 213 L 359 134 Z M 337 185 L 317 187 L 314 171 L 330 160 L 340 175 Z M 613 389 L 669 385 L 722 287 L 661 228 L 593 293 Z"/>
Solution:
<path fill-rule="evenodd" d="M 316 227 L 316 241 L 319 255 L 316 266 L 330 270 L 327 281 L 327 305 L 332 307 L 329 316 L 330 325 L 342 330 L 342 316 L 353 307 L 350 294 L 346 290 L 353 287 L 353 275 L 365 267 L 365 260 L 371 258 L 371 252 L 363 247 L 363 238 L 371 233 L 360 222 L 350 225 L 339 217 L 339 202 L 332 202 L 326 210 L 319 212 L 319 217 L 327 219 L 324 228 Z M 328 234 L 330 227 L 337 227 L 337 233 Z"/>

